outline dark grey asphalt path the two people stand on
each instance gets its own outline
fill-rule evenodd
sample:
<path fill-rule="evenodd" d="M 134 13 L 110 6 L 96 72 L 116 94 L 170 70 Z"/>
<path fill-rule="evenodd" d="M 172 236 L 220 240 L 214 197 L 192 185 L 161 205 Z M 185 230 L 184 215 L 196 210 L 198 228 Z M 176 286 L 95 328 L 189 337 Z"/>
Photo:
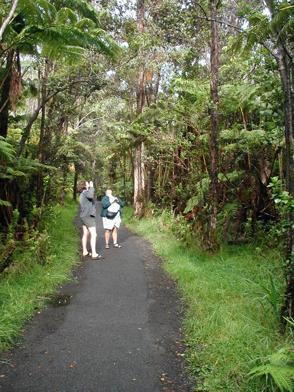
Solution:
<path fill-rule="evenodd" d="M 97 251 L 36 313 L 23 340 L 0 355 L 0 392 L 190 392 L 182 304 L 150 244 L 121 226 L 121 249 Z M 75 220 L 81 229 L 79 218 Z M 88 246 L 88 250 L 90 246 Z"/>

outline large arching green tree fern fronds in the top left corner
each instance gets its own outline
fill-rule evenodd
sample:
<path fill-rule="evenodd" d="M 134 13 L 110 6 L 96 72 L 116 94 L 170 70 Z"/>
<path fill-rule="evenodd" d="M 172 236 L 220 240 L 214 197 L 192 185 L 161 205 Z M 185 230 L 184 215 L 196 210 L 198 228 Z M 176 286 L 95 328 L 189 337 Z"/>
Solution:
<path fill-rule="evenodd" d="M 76 59 L 90 48 L 114 57 L 120 50 L 87 1 L 20 0 L 17 12 L 3 34 L 5 50 L 18 46 L 37 53 L 41 48 L 52 59 Z"/>

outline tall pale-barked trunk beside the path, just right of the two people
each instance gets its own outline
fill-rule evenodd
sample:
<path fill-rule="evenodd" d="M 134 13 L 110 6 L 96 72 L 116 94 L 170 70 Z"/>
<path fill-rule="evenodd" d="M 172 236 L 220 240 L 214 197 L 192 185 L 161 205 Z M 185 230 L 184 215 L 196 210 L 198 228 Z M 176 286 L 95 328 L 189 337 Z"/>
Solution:
<path fill-rule="evenodd" d="M 137 0 L 137 27 L 139 34 L 144 33 L 144 0 Z M 137 117 L 142 113 L 145 106 L 145 67 L 143 55 L 139 55 L 139 71 L 137 78 Z M 141 218 L 144 215 L 144 142 L 139 141 L 134 147 L 134 217 Z"/>

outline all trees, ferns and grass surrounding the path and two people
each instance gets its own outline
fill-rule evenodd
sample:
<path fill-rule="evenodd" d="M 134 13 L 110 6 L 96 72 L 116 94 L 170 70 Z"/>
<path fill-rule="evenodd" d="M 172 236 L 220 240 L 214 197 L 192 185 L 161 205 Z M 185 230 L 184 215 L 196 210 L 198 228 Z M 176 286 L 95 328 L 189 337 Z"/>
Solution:
<path fill-rule="evenodd" d="M 84 179 L 178 282 L 199 391 L 293 392 L 293 1 L 0 0 L 0 21 L 0 349 L 70 279 Z"/>

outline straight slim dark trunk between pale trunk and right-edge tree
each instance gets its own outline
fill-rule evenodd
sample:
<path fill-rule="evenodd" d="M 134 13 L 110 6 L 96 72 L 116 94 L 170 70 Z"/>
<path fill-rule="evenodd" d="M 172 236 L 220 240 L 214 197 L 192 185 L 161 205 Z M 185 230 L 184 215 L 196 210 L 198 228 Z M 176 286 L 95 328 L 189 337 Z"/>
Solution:
<path fill-rule="evenodd" d="M 210 216 L 208 221 L 208 245 L 211 251 L 215 252 L 219 249 L 217 238 L 217 216 L 219 209 L 218 201 L 218 173 L 219 173 L 219 149 L 218 149 L 218 136 L 219 136 L 219 95 L 218 95 L 218 82 L 219 82 L 219 38 L 217 31 L 217 0 L 210 0 L 210 15 L 211 15 L 211 128 L 209 130 L 209 153 L 210 153 Z"/>

